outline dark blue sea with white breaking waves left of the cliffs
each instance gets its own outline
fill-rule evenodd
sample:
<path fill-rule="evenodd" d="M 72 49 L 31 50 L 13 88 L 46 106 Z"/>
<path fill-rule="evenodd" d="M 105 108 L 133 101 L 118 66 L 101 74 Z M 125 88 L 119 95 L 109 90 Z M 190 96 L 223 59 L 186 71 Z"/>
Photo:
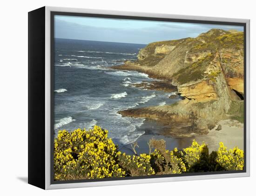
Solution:
<path fill-rule="evenodd" d="M 88 130 L 98 125 L 108 130 L 115 144 L 123 146 L 150 130 L 152 125 L 147 126 L 144 118 L 122 117 L 117 112 L 171 104 L 179 98 L 170 99 L 172 93 L 136 88 L 133 84 L 156 80 L 145 73 L 110 69 L 126 60 L 136 60 L 145 46 L 55 38 L 55 135 L 63 129 Z"/>

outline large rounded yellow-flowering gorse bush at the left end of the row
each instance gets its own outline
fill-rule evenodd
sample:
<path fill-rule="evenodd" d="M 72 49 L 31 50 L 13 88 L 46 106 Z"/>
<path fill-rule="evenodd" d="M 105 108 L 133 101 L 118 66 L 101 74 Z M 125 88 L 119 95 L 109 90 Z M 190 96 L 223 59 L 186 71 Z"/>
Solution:
<path fill-rule="evenodd" d="M 94 126 L 90 131 L 60 131 L 54 141 L 56 180 L 124 177 L 119 166 L 121 152 L 108 138 L 108 131 Z"/>

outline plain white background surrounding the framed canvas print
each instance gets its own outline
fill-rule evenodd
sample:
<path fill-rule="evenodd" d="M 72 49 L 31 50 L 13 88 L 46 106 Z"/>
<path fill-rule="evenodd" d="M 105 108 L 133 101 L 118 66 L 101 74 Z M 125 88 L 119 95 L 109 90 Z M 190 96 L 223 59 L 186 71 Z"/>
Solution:
<path fill-rule="evenodd" d="M 236 196 L 255 194 L 256 11 L 253 0 L 2 0 L 0 11 L 0 195 Z M 251 177 L 69 190 L 40 190 L 27 179 L 27 12 L 66 6 L 251 19 Z M 255 181 L 253 183 L 253 181 Z"/>

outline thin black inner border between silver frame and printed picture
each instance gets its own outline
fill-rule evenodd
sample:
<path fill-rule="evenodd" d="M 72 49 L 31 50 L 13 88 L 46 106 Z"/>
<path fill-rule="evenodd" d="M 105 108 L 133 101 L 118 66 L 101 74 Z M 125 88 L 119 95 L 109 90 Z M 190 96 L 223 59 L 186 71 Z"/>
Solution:
<path fill-rule="evenodd" d="M 153 18 L 153 17 L 139 17 L 139 16 L 121 16 L 121 15 L 108 15 L 108 14 L 93 14 L 93 13 L 69 13 L 69 12 L 51 12 L 51 184 L 60 183 L 85 183 L 85 182 L 102 182 L 102 181 L 116 181 L 116 180 L 129 180 L 129 179 L 145 179 L 145 178 L 162 178 L 162 177 L 186 177 L 186 176 L 203 176 L 215 174 L 231 174 L 231 173 L 245 173 L 246 172 L 246 23 L 236 22 L 220 22 L 220 21 L 207 21 L 207 20 L 193 20 L 193 19 L 168 19 L 168 18 Z M 110 19 L 134 19 L 134 20 L 152 20 L 152 21 L 167 21 L 167 22 L 183 22 L 183 23 L 199 23 L 199 24 L 212 24 L 212 25 L 236 25 L 243 26 L 244 33 L 244 132 L 243 132 L 243 151 L 244 151 L 244 167 L 240 171 L 209 171 L 209 172 L 196 172 L 196 173 L 182 173 L 182 174 L 164 174 L 152 176 L 139 176 L 139 177 L 113 177 L 113 178 L 98 178 L 98 179 L 79 179 L 79 180 L 54 180 L 54 15 L 65 16 L 84 16 L 84 17 L 97 17 L 97 18 L 110 18 Z M 189 18 L 189 16 L 188 16 Z"/>

